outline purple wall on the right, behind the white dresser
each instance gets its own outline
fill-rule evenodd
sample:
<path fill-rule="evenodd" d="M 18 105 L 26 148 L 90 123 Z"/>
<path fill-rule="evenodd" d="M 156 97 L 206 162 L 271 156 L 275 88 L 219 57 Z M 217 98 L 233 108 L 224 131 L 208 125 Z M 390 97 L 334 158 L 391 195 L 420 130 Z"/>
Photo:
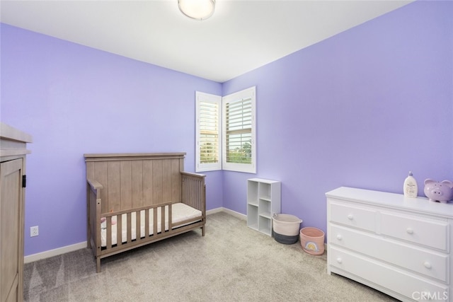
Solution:
<path fill-rule="evenodd" d="M 282 212 L 325 231 L 336 187 L 453 180 L 452 16 L 418 1 L 224 83 L 256 86 L 258 136 L 258 173 L 224 173 L 224 207 L 246 212 L 251 176 L 281 180 Z"/>

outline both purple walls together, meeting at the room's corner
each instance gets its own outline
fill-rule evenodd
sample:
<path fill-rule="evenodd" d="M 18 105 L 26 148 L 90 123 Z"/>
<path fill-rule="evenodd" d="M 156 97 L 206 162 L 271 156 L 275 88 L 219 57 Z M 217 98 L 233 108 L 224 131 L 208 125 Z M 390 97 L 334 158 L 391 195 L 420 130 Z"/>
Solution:
<path fill-rule="evenodd" d="M 270 178 L 325 230 L 335 187 L 453 180 L 452 15 L 417 1 L 223 85 L 1 24 L 1 120 L 34 139 L 25 255 L 86 240 L 83 153 L 185 151 L 195 170 L 195 91 L 257 87 L 258 173 L 206 173 L 208 209 L 246 214 L 246 179 Z"/>

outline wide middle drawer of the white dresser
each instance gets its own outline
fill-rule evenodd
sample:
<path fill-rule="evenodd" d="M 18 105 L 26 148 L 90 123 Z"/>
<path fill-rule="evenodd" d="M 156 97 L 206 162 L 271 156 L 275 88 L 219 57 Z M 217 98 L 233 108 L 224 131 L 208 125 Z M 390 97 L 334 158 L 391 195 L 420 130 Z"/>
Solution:
<path fill-rule="evenodd" d="M 329 245 L 348 248 L 439 281 L 447 282 L 449 279 L 447 254 L 415 248 L 410 244 L 398 243 L 341 226 L 331 226 L 330 234 Z"/>

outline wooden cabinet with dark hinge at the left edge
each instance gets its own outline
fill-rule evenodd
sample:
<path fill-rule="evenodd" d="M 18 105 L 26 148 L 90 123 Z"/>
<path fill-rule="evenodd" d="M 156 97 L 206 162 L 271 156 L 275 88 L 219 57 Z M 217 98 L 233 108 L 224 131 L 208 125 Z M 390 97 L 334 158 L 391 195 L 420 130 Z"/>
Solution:
<path fill-rule="evenodd" d="M 0 302 L 23 301 L 25 155 L 31 141 L 0 123 Z"/>

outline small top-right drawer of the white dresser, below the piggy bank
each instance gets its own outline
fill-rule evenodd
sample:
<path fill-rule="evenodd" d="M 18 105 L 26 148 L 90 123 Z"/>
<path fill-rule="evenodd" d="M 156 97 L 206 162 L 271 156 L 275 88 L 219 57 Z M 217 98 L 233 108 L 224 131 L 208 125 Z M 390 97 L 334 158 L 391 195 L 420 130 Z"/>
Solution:
<path fill-rule="evenodd" d="M 380 232 L 386 236 L 407 240 L 430 248 L 449 250 L 447 221 L 385 211 L 382 212 L 380 220 Z"/>

